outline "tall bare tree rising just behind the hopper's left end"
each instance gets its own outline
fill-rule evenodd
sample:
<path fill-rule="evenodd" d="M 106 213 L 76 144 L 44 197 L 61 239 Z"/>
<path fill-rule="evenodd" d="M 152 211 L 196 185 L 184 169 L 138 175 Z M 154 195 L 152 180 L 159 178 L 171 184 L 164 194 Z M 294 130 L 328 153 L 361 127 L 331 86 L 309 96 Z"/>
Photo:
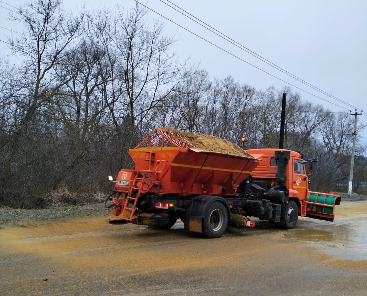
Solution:
<path fill-rule="evenodd" d="M 160 22 L 148 26 L 145 10 L 138 4 L 129 12 L 120 9 L 116 26 L 115 45 L 127 94 L 121 103 L 129 112 L 135 133 L 152 108 L 168 100 L 182 81 L 185 64 L 180 65 L 170 51 L 174 37 L 164 34 Z"/>

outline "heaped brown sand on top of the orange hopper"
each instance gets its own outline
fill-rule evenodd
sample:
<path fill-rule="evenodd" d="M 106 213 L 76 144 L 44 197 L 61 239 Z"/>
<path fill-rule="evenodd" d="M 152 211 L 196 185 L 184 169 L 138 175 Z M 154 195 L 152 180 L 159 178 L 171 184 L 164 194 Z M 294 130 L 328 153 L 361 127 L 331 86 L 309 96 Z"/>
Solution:
<path fill-rule="evenodd" d="M 209 136 L 206 134 L 181 132 L 179 130 L 171 129 L 170 127 L 157 127 L 157 130 L 163 130 L 164 132 L 168 132 L 174 134 L 175 136 L 181 137 L 183 141 L 188 143 L 188 145 L 194 149 L 253 158 L 250 154 L 248 154 L 236 144 L 226 141 L 222 138 Z"/>

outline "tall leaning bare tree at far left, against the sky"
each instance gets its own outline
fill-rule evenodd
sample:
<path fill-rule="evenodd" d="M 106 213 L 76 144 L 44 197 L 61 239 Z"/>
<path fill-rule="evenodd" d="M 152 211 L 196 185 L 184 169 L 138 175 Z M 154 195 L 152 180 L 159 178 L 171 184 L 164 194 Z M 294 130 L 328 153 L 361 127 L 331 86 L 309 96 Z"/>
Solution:
<path fill-rule="evenodd" d="M 55 67 L 66 47 L 79 36 L 82 17 L 66 16 L 59 0 L 38 0 L 11 13 L 11 20 L 25 27 L 24 32 L 9 39 L 12 52 L 22 58 L 17 68 L 24 83 L 24 99 L 28 103 L 22 118 L 12 129 L 11 140 L 16 140 L 32 120 L 34 112 L 52 100 L 68 80 L 60 81 L 55 75 Z M 64 75 L 72 78 L 69 73 Z"/>

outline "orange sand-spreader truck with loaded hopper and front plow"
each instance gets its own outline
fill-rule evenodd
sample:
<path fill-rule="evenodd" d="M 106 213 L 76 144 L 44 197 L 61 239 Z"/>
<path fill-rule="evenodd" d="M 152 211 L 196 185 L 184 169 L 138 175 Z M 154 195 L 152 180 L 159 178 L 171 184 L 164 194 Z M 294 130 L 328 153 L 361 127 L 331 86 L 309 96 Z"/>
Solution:
<path fill-rule="evenodd" d="M 157 128 L 129 150 L 135 169 L 110 176 L 110 223 L 185 230 L 220 237 L 250 217 L 292 229 L 298 217 L 334 220 L 341 198 L 308 190 L 312 163 L 286 149 L 243 150 L 221 138 Z"/>

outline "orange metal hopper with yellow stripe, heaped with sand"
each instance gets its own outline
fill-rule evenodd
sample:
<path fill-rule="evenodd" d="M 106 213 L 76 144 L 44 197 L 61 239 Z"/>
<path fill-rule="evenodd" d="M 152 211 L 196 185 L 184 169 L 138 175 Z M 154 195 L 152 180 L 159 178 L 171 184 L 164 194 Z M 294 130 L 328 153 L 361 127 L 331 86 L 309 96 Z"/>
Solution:
<path fill-rule="evenodd" d="M 234 195 L 259 163 L 229 141 L 167 127 L 155 129 L 129 153 L 135 170 L 121 170 L 117 180 L 129 180 L 131 187 L 137 175 L 149 176 L 159 184 L 159 195 L 170 196 Z M 115 190 L 128 193 L 131 188 L 116 184 Z"/>

